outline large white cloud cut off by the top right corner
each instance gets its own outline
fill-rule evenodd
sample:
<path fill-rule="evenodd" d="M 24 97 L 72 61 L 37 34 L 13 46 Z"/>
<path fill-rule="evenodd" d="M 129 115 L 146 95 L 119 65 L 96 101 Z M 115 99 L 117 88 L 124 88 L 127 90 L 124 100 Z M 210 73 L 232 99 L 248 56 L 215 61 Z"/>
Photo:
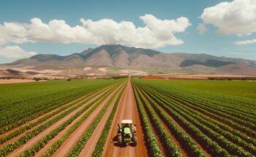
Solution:
<path fill-rule="evenodd" d="M 216 26 L 223 35 L 249 35 L 256 32 L 256 1 L 222 2 L 203 10 L 203 23 Z"/>

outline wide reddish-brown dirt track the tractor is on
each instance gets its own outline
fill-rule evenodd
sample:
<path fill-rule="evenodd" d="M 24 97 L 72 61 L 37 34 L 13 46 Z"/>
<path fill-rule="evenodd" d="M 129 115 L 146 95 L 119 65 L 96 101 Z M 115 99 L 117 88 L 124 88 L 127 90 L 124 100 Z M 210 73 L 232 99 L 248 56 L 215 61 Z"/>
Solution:
<path fill-rule="evenodd" d="M 113 141 L 116 137 L 117 124 L 121 124 L 122 119 L 132 119 L 137 125 L 138 144 L 137 146 L 127 146 L 121 148 L 117 145 L 117 141 Z M 108 135 L 102 156 L 148 156 L 146 145 L 143 139 L 143 132 L 140 126 L 140 117 L 135 102 L 131 82 L 128 81 L 126 89 L 118 104 L 116 115 L 111 125 L 110 134 Z"/>

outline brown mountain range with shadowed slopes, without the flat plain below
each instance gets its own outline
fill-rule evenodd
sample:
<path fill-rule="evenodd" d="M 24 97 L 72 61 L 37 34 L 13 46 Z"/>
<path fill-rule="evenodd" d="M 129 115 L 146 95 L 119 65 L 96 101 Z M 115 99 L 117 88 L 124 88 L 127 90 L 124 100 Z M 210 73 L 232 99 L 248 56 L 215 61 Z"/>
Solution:
<path fill-rule="evenodd" d="M 162 53 L 153 49 L 125 47 L 120 44 L 102 45 L 72 55 L 34 55 L 1 65 L 5 68 L 70 69 L 76 67 L 118 67 L 165 71 L 195 71 L 203 73 L 232 73 L 251 75 L 256 61 L 206 54 Z M 255 74 L 256 75 L 256 74 Z"/>

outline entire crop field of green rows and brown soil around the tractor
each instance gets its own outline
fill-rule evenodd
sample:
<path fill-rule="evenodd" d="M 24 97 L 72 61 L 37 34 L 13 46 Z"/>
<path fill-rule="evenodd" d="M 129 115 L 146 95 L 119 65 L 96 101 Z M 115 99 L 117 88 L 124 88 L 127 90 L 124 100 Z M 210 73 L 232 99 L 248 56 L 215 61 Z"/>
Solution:
<path fill-rule="evenodd" d="M 131 119 L 137 145 L 118 145 Z M 255 156 L 256 82 L 91 79 L 0 85 L 0 156 Z"/>

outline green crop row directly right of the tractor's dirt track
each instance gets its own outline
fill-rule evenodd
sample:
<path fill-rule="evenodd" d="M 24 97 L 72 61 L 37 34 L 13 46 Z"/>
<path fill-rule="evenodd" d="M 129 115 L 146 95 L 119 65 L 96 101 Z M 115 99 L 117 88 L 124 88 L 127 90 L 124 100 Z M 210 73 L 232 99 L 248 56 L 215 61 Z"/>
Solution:
<path fill-rule="evenodd" d="M 161 157 L 163 156 L 162 151 L 160 150 L 159 145 L 157 143 L 157 138 L 154 136 L 154 133 L 152 132 L 151 123 L 146 114 L 146 110 L 143 108 L 143 104 L 140 100 L 139 94 L 137 90 L 135 90 L 134 86 L 133 89 L 135 92 L 135 99 L 140 113 L 140 119 L 143 127 L 143 133 L 146 139 L 148 153 L 153 157 Z"/>

